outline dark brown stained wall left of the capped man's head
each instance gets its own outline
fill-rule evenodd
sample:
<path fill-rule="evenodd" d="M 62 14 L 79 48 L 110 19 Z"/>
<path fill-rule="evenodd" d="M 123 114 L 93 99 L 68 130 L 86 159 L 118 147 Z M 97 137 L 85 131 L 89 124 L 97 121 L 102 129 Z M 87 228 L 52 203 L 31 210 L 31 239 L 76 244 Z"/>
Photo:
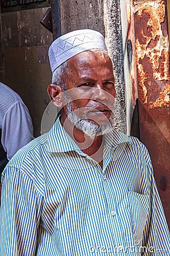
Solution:
<path fill-rule="evenodd" d="M 31 113 L 35 136 L 49 102 L 51 81 L 48 47 L 52 34 L 41 26 L 45 8 L 1 14 L 0 80 L 23 98 Z"/>

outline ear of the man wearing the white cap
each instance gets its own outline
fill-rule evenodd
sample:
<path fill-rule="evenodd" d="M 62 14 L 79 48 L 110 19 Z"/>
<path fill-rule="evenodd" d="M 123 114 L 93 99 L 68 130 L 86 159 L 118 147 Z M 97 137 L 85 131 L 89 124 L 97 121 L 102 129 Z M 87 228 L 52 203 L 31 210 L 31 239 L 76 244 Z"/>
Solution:
<path fill-rule="evenodd" d="M 53 104 L 57 108 L 62 108 L 62 97 L 61 97 L 62 92 L 63 92 L 63 89 L 59 85 L 50 84 L 48 86 L 48 95 L 50 99 L 53 100 Z"/>

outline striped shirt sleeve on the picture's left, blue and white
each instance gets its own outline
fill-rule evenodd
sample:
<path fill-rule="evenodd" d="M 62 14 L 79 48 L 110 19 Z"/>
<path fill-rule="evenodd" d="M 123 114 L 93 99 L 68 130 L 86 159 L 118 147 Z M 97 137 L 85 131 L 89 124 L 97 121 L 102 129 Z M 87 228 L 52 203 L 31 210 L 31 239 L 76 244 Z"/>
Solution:
<path fill-rule="evenodd" d="M 0 255 L 33 256 L 42 196 L 22 171 L 8 167 L 2 186 Z"/>

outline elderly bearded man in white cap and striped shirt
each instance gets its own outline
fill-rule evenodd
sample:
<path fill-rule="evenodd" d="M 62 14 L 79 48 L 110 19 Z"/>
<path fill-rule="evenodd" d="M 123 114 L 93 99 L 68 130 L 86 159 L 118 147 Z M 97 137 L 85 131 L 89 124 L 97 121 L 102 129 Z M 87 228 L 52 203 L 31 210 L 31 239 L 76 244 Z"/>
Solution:
<path fill-rule="evenodd" d="M 61 115 L 2 175 L 1 255 L 169 255 L 150 156 L 113 129 L 103 36 L 70 32 L 49 49 L 48 93 Z"/>

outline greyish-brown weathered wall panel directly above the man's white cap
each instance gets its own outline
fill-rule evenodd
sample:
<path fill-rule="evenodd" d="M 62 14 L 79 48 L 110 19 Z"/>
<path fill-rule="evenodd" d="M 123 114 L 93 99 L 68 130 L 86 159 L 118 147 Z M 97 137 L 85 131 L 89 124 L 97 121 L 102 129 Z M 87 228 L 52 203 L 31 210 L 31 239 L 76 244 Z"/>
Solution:
<path fill-rule="evenodd" d="M 90 28 L 105 35 L 103 0 L 60 1 L 61 34 Z"/>

